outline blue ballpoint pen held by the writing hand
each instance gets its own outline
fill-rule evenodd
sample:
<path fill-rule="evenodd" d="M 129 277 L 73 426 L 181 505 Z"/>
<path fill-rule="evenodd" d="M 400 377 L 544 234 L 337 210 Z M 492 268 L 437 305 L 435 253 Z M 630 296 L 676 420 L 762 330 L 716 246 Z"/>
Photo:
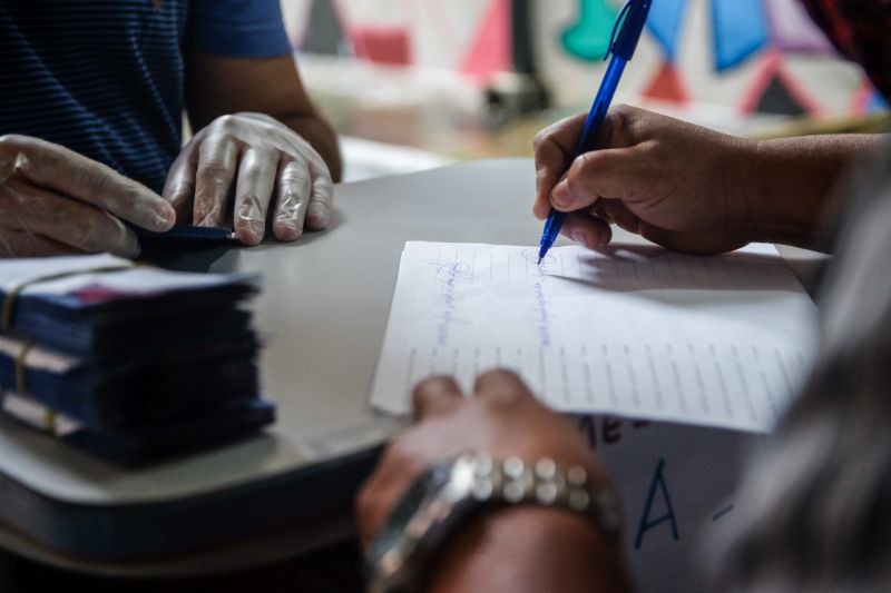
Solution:
<path fill-rule="evenodd" d="M 604 126 L 606 112 L 609 109 L 609 103 L 613 102 L 613 96 L 616 93 L 616 87 L 619 85 L 625 65 L 631 60 L 634 50 L 637 48 L 637 41 L 640 39 L 640 33 L 644 31 L 644 24 L 647 21 L 649 7 L 652 4 L 653 0 L 628 0 L 628 3 L 621 9 L 618 19 L 616 19 L 616 24 L 618 27 L 623 16 L 625 17 L 618 36 L 610 42 L 609 53 L 613 55 L 613 59 L 609 61 L 609 66 L 604 75 L 604 80 L 600 82 L 600 89 L 597 91 L 597 97 L 594 99 L 588 119 L 585 121 L 581 137 L 578 140 L 578 145 L 576 145 L 576 158 L 598 148 L 597 136 L 600 134 L 600 128 Z M 545 223 L 545 231 L 541 235 L 541 247 L 538 250 L 539 264 L 541 264 L 541 260 L 548 255 L 548 250 L 554 246 L 554 241 L 557 240 L 557 236 L 560 234 L 560 227 L 564 226 L 564 220 L 566 220 L 566 213 L 551 208 L 548 221 Z"/>

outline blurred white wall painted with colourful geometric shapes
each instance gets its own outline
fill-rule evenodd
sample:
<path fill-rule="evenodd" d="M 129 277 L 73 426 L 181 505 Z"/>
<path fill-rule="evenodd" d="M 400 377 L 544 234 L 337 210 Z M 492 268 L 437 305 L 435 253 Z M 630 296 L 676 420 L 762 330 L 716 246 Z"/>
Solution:
<path fill-rule="evenodd" d="M 623 1 L 526 3 L 540 78 L 558 103 L 586 102 Z M 444 68 L 478 86 L 511 68 L 517 4 L 282 0 L 298 51 Z M 742 116 L 850 116 L 887 108 L 860 70 L 835 55 L 797 0 L 654 0 L 620 95 L 678 108 L 722 106 Z"/>

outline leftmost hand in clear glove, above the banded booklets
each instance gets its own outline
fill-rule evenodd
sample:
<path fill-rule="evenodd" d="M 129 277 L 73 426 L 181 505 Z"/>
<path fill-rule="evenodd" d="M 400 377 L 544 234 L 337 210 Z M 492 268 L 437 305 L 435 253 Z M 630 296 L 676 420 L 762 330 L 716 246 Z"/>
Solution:
<path fill-rule="evenodd" d="M 0 256 L 139 254 L 136 226 L 169 229 L 160 196 L 109 167 L 28 136 L 0 137 Z"/>

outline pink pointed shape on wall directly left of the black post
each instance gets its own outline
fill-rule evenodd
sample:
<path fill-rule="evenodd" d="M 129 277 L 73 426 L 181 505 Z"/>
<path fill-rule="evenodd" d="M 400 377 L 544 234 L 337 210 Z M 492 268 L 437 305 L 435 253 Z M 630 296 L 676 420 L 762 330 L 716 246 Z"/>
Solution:
<path fill-rule="evenodd" d="M 511 69 L 510 16 L 509 0 L 491 0 L 461 62 L 462 73 L 486 82 L 492 75 Z"/>

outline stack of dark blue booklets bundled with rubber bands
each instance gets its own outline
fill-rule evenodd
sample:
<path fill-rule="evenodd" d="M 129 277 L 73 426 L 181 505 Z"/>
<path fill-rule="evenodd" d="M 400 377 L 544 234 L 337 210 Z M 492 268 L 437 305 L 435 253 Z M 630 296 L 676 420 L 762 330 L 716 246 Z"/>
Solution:
<path fill-rule="evenodd" d="M 0 392 L 17 418 L 138 464 L 256 433 L 256 278 L 108 255 L 0 260 Z"/>

